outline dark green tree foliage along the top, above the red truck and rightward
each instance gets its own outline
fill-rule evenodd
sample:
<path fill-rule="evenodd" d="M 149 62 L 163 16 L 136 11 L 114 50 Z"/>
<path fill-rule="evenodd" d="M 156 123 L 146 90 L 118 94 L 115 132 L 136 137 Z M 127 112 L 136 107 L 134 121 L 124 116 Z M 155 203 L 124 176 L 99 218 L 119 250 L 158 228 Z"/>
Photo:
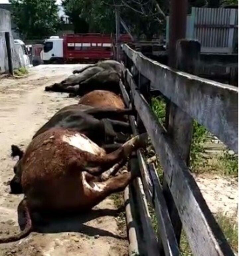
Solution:
<path fill-rule="evenodd" d="M 216 7 L 238 0 L 189 0 L 189 12 L 195 7 Z M 63 0 L 75 33 L 115 33 L 115 9 L 136 38 L 151 39 L 164 33 L 165 17 L 169 15 L 169 0 Z"/>

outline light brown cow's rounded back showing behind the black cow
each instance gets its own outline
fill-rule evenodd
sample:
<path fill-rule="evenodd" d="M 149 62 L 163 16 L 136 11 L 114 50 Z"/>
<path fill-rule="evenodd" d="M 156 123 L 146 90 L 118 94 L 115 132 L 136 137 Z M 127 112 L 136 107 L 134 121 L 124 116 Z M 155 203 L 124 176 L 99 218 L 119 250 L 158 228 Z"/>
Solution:
<path fill-rule="evenodd" d="M 124 109 L 122 98 L 112 91 L 94 90 L 81 97 L 79 104 L 92 107 L 111 107 Z"/>

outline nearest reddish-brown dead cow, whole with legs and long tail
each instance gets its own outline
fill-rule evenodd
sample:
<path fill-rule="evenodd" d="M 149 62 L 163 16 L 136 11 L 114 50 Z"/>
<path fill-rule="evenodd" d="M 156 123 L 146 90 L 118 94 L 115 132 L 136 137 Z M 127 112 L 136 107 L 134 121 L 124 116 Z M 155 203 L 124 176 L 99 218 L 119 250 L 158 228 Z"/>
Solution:
<path fill-rule="evenodd" d="M 114 192 L 122 191 L 135 177 L 130 172 L 101 182 L 101 174 L 115 166 L 118 170 L 132 151 L 145 147 L 147 136 L 136 136 L 118 150 L 106 154 L 85 135 L 67 129 L 50 129 L 32 140 L 21 159 L 25 194 L 18 207 L 24 216 L 22 232 L 0 238 L 17 241 L 34 230 L 38 213 L 87 211 Z M 22 223 L 22 222 L 20 222 Z"/>

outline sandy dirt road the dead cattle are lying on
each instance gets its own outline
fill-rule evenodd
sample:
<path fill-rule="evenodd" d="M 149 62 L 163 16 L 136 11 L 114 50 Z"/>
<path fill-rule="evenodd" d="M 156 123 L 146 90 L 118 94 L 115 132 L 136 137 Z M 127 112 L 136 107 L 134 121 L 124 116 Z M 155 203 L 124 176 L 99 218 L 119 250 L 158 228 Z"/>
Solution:
<path fill-rule="evenodd" d="M 11 145 L 25 149 L 49 117 L 77 102 L 67 94 L 45 92 L 44 86 L 61 81 L 79 66 L 40 65 L 25 78 L 0 78 L 0 236 L 19 231 L 17 206 L 23 195 L 10 194 L 6 185 L 16 163 L 10 157 Z M 1 244 L 0 255 L 127 255 L 126 233 L 118 230 L 117 214 L 113 200 L 107 198 L 87 215 L 55 220 L 19 242 Z"/>

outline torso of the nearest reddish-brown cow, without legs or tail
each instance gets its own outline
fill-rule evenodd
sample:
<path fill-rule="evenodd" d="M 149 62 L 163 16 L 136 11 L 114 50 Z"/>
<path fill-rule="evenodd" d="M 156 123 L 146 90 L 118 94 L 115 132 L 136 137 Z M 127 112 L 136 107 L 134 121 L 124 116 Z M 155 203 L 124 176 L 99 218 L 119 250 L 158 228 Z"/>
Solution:
<path fill-rule="evenodd" d="M 49 130 L 36 137 L 34 140 L 41 139 L 40 136 L 47 140 L 40 147 L 36 144 L 25 159 L 22 187 L 29 206 L 46 211 L 87 210 L 95 205 L 103 187 L 88 183 L 80 166 L 89 160 L 85 152 L 98 157 L 106 153 L 78 132 L 59 130 L 52 133 Z M 74 165 L 71 160 L 78 162 Z"/>

